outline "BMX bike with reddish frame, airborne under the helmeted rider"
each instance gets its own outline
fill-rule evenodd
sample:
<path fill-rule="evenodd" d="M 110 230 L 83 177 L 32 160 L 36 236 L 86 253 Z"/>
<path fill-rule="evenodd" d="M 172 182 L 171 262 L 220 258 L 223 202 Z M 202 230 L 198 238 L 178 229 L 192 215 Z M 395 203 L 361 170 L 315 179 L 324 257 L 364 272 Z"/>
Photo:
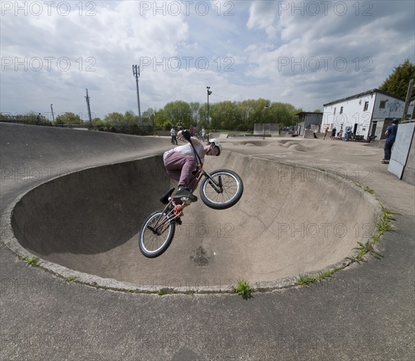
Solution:
<path fill-rule="evenodd" d="M 193 193 L 201 182 L 201 200 L 212 209 L 228 209 L 241 199 L 243 182 L 232 170 L 218 169 L 208 173 L 199 161 L 193 176 L 190 190 Z M 166 251 L 174 238 L 176 224 L 182 224 L 183 210 L 192 203 L 187 197 L 174 200 L 173 191 L 174 188 L 170 188 L 160 198 L 165 204 L 163 211 L 151 213 L 140 229 L 138 246 L 141 253 L 148 258 L 158 257 Z"/>

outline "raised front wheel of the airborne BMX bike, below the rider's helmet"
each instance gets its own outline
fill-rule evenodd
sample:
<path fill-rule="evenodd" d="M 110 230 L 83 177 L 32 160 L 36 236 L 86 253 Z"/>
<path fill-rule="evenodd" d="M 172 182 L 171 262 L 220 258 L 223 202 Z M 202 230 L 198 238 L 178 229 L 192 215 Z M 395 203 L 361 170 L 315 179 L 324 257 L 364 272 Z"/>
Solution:
<path fill-rule="evenodd" d="M 201 182 L 201 200 L 212 209 L 234 206 L 241 199 L 242 193 L 242 179 L 232 170 L 214 170 L 210 177 L 205 177 Z"/>

